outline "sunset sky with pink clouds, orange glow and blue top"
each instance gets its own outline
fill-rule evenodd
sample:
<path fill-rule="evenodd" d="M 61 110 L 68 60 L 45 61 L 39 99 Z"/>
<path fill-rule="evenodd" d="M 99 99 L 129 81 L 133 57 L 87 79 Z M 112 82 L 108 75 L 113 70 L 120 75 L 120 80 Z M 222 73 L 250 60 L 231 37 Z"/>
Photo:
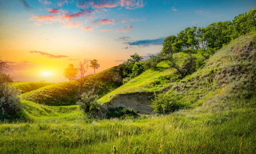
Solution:
<path fill-rule="evenodd" d="M 99 72 L 134 53 L 147 59 L 169 35 L 252 8 L 256 0 L 0 0 L 0 59 L 15 81 L 64 82 L 69 64 L 96 59 Z"/>

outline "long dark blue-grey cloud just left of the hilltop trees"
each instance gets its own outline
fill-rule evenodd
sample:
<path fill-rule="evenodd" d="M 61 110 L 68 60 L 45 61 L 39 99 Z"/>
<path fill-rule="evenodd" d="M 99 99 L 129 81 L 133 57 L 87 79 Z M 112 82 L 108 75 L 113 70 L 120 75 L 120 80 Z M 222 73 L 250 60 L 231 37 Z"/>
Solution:
<path fill-rule="evenodd" d="M 139 47 L 159 46 L 159 45 L 162 45 L 164 40 L 165 40 L 165 37 L 160 37 L 158 39 L 153 39 L 153 40 L 137 40 L 134 42 L 125 42 L 125 44 L 128 44 L 129 46 L 139 46 Z"/>

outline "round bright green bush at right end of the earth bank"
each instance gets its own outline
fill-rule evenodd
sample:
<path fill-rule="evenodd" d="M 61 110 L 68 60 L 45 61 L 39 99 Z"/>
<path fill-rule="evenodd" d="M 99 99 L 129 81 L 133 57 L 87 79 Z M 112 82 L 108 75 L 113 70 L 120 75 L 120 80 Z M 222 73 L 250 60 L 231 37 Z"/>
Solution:
<path fill-rule="evenodd" d="M 159 114 L 169 114 L 183 107 L 180 94 L 173 90 L 155 95 L 151 107 Z"/>

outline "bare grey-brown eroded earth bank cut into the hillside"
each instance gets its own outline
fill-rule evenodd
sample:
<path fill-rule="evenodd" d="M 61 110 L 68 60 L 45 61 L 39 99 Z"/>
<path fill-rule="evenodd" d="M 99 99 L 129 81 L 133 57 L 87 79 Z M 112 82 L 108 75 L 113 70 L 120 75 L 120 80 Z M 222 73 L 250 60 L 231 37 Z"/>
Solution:
<path fill-rule="evenodd" d="M 110 107 L 133 108 L 139 114 L 155 114 L 154 109 L 149 106 L 152 98 L 154 98 L 154 93 L 118 94 L 110 102 L 103 105 L 102 114 L 106 114 Z"/>

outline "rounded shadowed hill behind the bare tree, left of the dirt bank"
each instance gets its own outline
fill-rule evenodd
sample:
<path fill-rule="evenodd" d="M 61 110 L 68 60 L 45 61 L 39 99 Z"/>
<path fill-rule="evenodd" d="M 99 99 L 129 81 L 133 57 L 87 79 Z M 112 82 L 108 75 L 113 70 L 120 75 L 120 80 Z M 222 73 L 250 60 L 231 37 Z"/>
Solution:
<path fill-rule="evenodd" d="M 108 78 L 108 75 L 106 75 L 111 74 L 113 72 L 113 69 L 114 68 L 109 68 L 97 74 L 87 76 L 87 81 L 85 84 L 87 86 L 92 86 L 94 83 L 96 83 L 96 90 L 99 91 L 99 96 L 107 94 L 108 92 L 112 91 L 113 89 L 119 86 L 115 81 Z M 48 106 L 74 105 L 77 101 L 76 85 L 76 81 L 55 83 L 22 94 L 21 98 L 23 100 L 29 100 L 35 103 L 45 104 Z"/>

